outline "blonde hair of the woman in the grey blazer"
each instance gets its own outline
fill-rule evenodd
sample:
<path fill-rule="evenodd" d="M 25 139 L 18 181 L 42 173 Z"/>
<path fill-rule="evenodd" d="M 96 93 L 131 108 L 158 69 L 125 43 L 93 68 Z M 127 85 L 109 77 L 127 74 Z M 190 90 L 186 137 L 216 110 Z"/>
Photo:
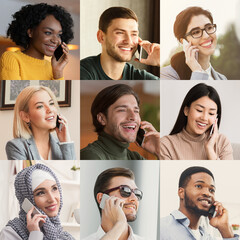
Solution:
<path fill-rule="evenodd" d="M 29 112 L 29 101 L 33 94 L 39 91 L 46 91 L 49 96 L 53 99 L 54 105 L 59 109 L 56 96 L 52 90 L 44 86 L 29 86 L 24 88 L 18 95 L 14 106 L 14 119 L 13 119 L 13 137 L 14 138 L 25 138 L 29 139 L 33 133 L 28 124 L 23 121 L 20 116 L 20 112 Z"/>

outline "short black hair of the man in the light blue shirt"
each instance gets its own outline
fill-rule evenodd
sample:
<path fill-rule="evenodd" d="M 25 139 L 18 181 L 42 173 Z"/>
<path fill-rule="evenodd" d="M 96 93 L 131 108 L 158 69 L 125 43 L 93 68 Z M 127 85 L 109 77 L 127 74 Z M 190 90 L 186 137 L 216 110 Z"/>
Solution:
<path fill-rule="evenodd" d="M 208 170 L 205 167 L 199 167 L 199 166 L 194 166 L 194 167 L 189 167 L 186 170 L 184 170 L 179 178 L 179 183 L 178 183 L 178 188 L 185 188 L 191 178 L 191 176 L 195 173 L 199 173 L 199 172 L 204 172 L 207 173 L 208 175 L 210 175 L 213 180 L 214 180 L 214 176 L 212 174 L 212 172 L 210 170 Z"/>

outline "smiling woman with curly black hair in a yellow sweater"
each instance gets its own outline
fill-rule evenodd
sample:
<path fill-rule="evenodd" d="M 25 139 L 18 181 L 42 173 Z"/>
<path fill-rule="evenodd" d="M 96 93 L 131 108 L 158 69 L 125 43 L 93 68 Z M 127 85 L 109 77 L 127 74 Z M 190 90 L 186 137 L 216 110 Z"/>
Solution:
<path fill-rule="evenodd" d="M 73 20 L 61 6 L 45 3 L 26 5 L 13 14 L 7 36 L 23 51 L 6 51 L 0 59 L 1 80 L 63 79 L 68 63 L 67 43 L 73 39 Z M 62 56 L 54 51 L 61 44 Z M 52 57 L 51 62 L 44 56 Z"/>

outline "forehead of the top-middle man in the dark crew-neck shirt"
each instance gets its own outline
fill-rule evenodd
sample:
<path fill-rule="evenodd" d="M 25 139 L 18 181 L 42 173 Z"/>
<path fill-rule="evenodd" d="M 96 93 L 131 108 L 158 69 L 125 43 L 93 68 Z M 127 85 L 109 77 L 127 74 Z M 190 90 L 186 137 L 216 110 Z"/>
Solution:
<path fill-rule="evenodd" d="M 107 31 L 122 29 L 126 31 L 138 31 L 138 23 L 134 19 L 115 18 L 111 21 Z"/>

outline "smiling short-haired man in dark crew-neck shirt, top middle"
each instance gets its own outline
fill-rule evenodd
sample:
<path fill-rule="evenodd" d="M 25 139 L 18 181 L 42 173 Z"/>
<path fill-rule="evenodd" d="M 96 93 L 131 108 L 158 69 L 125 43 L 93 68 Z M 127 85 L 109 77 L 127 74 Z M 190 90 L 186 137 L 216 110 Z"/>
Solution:
<path fill-rule="evenodd" d="M 160 66 L 160 44 L 142 41 L 138 36 L 138 18 L 124 7 L 105 10 L 99 20 L 97 39 L 102 45 L 102 53 L 80 61 L 81 80 L 159 80 L 157 76 L 136 69 L 128 63 L 138 45 L 148 53 L 147 59 L 139 59 L 143 64 Z"/>

